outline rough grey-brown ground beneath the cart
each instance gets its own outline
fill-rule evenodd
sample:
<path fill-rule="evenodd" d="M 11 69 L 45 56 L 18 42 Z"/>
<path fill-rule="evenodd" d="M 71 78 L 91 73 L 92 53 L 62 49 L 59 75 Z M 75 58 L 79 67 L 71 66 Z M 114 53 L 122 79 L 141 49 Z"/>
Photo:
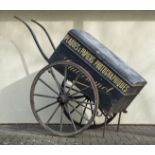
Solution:
<path fill-rule="evenodd" d="M 75 137 L 52 136 L 40 125 L 12 124 L 0 125 L 1 145 L 137 145 L 155 144 L 155 125 L 121 125 L 116 132 L 115 125 L 103 129 L 88 129 Z"/>

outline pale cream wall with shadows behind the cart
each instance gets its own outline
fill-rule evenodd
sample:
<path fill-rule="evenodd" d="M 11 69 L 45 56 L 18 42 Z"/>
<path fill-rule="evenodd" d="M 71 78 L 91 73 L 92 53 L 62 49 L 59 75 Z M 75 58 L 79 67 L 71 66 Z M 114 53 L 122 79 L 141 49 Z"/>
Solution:
<path fill-rule="evenodd" d="M 148 84 L 129 106 L 122 123 L 155 123 L 155 12 L 153 11 L 0 11 L 0 123 L 33 123 L 29 89 L 35 72 L 47 63 L 17 15 L 38 20 L 58 45 L 69 29 L 91 33 Z M 48 56 L 44 33 L 30 23 Z M 115 122 L 116 120 L 114 120 Z"/>

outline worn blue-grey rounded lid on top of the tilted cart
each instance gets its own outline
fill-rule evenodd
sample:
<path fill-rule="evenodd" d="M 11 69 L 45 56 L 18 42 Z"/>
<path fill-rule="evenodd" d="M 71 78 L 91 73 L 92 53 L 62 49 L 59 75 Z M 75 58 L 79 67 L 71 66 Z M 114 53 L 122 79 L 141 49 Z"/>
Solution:
<path fill-rule="evenodd" d="M 130 85 L 145 85 L 145 79 L 136 71 L 126 65 L 119 57 L 117 57 L 111 50 L 101 44 L 89 33 L 80 30 L 70 30 L 69 34 L 73 36 L 78 42 L 83 44 L 92 54 L 104 62 L 114 72 L 116 72 L 122 79 Z"/>

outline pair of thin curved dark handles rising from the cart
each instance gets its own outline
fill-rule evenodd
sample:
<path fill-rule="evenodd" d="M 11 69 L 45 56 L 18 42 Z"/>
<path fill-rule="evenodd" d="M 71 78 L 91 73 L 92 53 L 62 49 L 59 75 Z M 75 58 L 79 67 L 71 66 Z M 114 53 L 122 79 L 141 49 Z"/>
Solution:
<path fill-rule="evenodd" d="M 37 45 L 37 47 L 38 47 L 40 53 L 41 53 L 41 55 L 43 56 L 43 58 L 44 58 L 48 63 L 50 63 L 48 57 L 45 55 L 43 49 L 41 48 L 41 46 L 40 46 L 40 44 L 39 44 L 39 42 L 38 42 L 38 39 L 36 38 L 36 35 L 34 34 L 34 32 L 33 32 L 33 30 L 31 29 L 31 27 L 30 27 L 25 21 L 23 21 L 22 19 L 20 19 L 19 17 L 14 16 L 14 18 L 16 18 L 17 20 L 21 21 L 21 22 L 29 29 L 29 31 L 30 31 L 30 33 L 31 33 L 31 35 L 32 35 L 32 37 L 33 37 L 33 39 L 34 39 L 34 41 L 35 41 L 35 43 L 36 43 L 36 45 Z M 50 35 L 48 34 L 47 30 L 46 30 L 40 23 L 36 22 L 35 20 L 32 19 L 31 21 L 34 22 L 34 23 L 36 23 L 38 26 L 40 26 L 40 27 L 44 30 L 46 36 L 48 37 L 48 40 L 50 41 L 50 44 L 51 44 L 52 47 L 53 47 L 53 50 L 55 51 L 55 46 L 54 46 L 53 41 L 52 41 L 52 39 L 50 38 Z"/>

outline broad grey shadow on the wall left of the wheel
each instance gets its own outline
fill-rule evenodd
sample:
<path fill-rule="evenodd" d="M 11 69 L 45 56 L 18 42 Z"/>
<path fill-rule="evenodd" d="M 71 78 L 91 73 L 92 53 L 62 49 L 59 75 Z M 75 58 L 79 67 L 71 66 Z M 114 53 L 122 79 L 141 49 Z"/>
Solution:
<path fill-rule="evenodd" d="M 30 87 L 35 74 L 29 75 L 0 92 L 0 123 L 35 123 L 30 107 Z"/>

